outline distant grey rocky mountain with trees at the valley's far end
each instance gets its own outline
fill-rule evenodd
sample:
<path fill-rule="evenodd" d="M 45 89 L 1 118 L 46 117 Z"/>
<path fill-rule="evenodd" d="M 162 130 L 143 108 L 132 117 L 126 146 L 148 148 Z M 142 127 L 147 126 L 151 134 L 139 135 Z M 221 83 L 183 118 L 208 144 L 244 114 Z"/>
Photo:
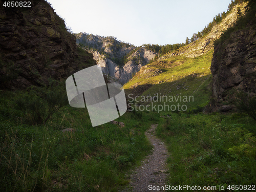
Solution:
<path fill-rule="evenodd" d="M 76 42 L 94 55 L 97 65 L 104 74 L 109 75 L 109 79 L 121 84 L 129 81 L 133 74 L 157 55 L 142 46 L 135 47 L 112 36 L 78 33 Z"/>

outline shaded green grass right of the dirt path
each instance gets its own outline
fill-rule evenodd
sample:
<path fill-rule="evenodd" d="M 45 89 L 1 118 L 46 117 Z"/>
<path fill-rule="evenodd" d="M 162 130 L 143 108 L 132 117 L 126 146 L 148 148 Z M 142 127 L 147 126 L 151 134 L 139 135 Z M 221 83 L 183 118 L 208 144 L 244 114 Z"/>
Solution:
<path fill-rule="evenodd" d="M 170 117 L 162 120 L 157 129 L 171 154 L 170 185 L 219 189 L 225 184 L 225 191 L 231 191 L 228 185 L 256 184 L 256 126 L 252 118 L 182 113 Z"/>

